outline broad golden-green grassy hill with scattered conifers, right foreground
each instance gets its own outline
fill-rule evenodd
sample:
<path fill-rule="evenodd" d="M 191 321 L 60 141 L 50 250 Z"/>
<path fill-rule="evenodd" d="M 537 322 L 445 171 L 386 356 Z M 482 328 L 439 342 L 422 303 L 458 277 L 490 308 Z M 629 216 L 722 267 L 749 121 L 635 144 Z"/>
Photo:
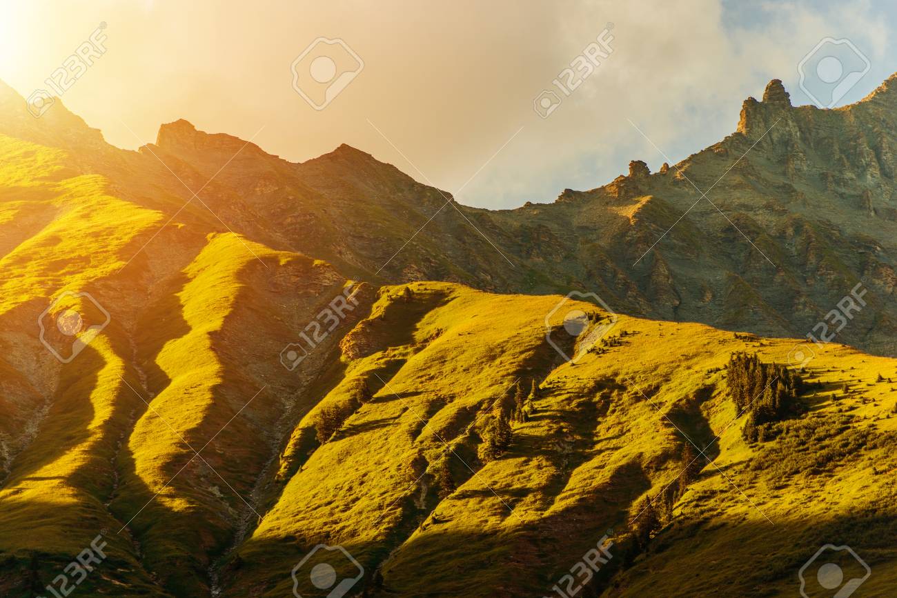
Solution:
<path fill-rule="evenodd" d="M 723 595 L 793 595 L 797 569 L 825 542 L 862 547 L 872 587 L 897 582 L 888 573 L 897 552 L 884 540 L 893 473 L 875 475 L 893 471 L 897 443 L 897 391 L 875 380 L 897 376 L 897 360 L 818 351 L 808 372 L 822 386 L 788 424 L 804 439 L 747 446 L 718 368 L 734 351 L 783 362 L 793 341 L 621 317 L 611 333 L 624 334 L 619 346 L 558 365 L 543 317 L 559 298 L 408 288 L 383 289 L 344 339 L 347 368 L 321 405 L 347 402 L 359 380 L 376 394 L 323 446 L 303 434 L 315 412 L 300 422 L 285 453 L 295 473 L 239 548 L 229 594 L 288 594 L 284 574 L 318 542 L 350 550 L 373 595 L 550 594 L 608 529 L 618 576 L 593 593 L 710 595 L 726 585 Z M 532 379 L 542 388 L 536 413 L 515 426 L 506 455 L 481 463 L 483 418 Z M 833 403 L 844 384 L 853 394 Z M 710 445 L 713 464 L 701 457 L 646 559 L 629 522 L 640 498 L 684 467 L 676 427 Z M 444 459 L 457 490 L 440 498 Z"/>

